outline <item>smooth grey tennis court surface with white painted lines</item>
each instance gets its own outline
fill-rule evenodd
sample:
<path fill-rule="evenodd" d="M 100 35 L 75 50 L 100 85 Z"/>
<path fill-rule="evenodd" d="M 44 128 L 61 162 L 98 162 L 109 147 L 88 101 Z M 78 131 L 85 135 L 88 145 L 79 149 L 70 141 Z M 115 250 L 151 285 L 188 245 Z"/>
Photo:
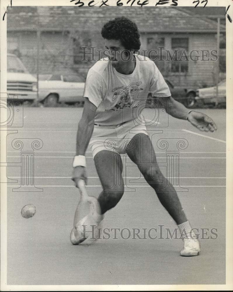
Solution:
<path fill-rule="evenodd" d="M 8 178 L 18 182 L 8 184 L 7 193 L 7 284 L 225 284 L 225 109 L 200 111 L 214 119 L 218 131 L 199 132 L 187 121 L 170 116 L 169 127 L 159 127 L 167 119 L 161 112 L 161 124 L 150 132 L 161 163 L 166 162 L 166 149 L 158 148 L 159 139 L 188 141 L 187 148 L 179 150 L 180 186 L 188 191 L 178 192 L 178 196 L 202 238 L 201 254 L 185 258 L 179 255 L 182 241 L 166 239 L 166 228 L 171 232 L 176 228 L 174 221 L 129 158 L 126 192 L 102 223 L 103 228 L 113 229 L 110 238 L 91 246 L 72 246 L 69 234 L 79 192 L 70 177 L 82 108 L 25 108 L 24 126 L 8 135 L 7 162 L 20 162 L 20 150 L 13 148 L 13 139 L 41 139 L 43 147 L 34 150 L 34 185 L 42 191 L 13 192 L 20 186 L 20 167 L 8 167 Z M 152 110 L 145 113 L 147 119 L 152 118 Z M 87 190 L 97 197 L 102 188 L 90 148 L 86 156 Z M 161 170 L 166 174 L 165 164 Z M 36 206 L 33 218 L 22 218 L 20 211 L 26 204 Z M 145 239 L 133 237 L 135 229 L 142 237 L 143 228 Z M 163 238 L 159 239 L 161 233 L 155 234 L 155 230 L 149 238 L 151 228 L 163 228 Z M 205 239 L 213 228 L 215 239 Z"/>

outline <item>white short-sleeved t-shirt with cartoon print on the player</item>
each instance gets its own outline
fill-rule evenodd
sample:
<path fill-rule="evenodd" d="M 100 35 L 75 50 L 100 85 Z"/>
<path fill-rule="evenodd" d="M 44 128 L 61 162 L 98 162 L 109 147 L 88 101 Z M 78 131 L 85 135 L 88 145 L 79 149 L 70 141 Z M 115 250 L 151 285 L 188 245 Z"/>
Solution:
<path fill-rule="evenodd" d="M 133 120 L 135 108 L 142 109 L 149 93 L 155 97 L 171 96 L 154 62 L 141 55 L 135 57 L 135 69 L 129 75 L 117 72 L 107 58 L 88 71 L 84 97 L 97 107 L 95 124 L 118 125 Z"/>

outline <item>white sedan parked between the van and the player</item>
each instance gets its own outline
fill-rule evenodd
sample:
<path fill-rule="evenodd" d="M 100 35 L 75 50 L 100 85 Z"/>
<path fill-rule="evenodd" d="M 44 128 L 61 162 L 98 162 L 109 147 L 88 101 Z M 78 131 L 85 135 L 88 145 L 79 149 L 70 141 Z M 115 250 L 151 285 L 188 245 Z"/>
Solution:
<path fill-rule="evenodd" d="M 46 74 L 39 76 L 39 102 L 45 106 L 58 103 L 84 104 L 85 79 L 79 74 Z"/>

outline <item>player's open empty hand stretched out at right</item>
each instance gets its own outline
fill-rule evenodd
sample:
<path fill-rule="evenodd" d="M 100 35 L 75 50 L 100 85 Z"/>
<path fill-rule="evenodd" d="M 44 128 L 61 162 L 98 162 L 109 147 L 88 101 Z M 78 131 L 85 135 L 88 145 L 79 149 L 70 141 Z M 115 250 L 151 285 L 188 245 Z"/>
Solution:
<path fill-rule="evenodd" d="M 194 127 L 198 128 L 200 131 L 214 132 L 215 130 L 217 130 L 217 126 L 215 122 L 206 114 L 203 114 L 201 112 L 195 112 L 195 111 L 189 112 L 188 121 Z"/>

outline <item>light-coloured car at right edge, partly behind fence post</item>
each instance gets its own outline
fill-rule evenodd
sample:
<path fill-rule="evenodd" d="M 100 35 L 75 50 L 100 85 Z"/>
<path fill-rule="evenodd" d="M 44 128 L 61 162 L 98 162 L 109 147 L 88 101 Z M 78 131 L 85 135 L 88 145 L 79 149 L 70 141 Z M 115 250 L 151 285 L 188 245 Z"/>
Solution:
<path fill-rule="evenodd" d="M 196 91 L 195 101 L 198 105 L 225 105 L 226 104 L 226 80 L 218 83 L 217 87 L 200 88 Z"/>

